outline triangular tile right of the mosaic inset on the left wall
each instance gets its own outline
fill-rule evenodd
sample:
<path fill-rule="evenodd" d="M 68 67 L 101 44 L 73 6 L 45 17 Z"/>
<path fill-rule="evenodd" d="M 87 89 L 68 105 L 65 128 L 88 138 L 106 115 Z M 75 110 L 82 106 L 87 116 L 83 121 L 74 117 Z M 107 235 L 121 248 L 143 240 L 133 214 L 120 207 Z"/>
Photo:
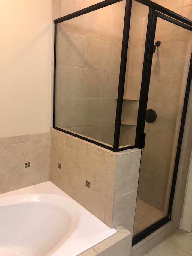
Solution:
<path fill-rule="evenodd" d="M 50 180 L 50 151 L 51 143 L 49 140 L 30 162 L 30 167 L 47 180 Z"/>

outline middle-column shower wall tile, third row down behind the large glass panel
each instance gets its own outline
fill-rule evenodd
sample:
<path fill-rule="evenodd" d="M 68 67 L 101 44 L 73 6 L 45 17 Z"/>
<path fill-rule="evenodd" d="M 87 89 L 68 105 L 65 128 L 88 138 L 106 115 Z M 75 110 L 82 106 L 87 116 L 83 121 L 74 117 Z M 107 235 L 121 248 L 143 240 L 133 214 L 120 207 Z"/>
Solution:
<path fill-rule="evenodd" d="M 106 71 L 85 69 L 85 98 L 104 98 Z"/>

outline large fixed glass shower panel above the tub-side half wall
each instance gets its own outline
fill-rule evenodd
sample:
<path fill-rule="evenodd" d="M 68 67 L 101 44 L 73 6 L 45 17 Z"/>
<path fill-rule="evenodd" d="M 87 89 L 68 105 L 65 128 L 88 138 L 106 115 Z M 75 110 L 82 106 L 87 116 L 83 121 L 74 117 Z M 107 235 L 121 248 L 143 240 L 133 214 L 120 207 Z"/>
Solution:
<path fill-rule="evenodd" d="M 55 126 L 110 146 L 125 2 L 57 25 Z"/>

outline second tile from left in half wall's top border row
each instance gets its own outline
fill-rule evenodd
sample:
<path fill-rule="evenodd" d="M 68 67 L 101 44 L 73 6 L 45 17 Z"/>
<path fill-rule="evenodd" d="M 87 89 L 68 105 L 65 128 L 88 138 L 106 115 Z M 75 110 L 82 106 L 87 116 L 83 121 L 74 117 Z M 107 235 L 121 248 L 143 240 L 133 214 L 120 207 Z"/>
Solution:
<path fill-rule="evenodd" d="M 85 155 L 85 142 L 83 142 L 80 139 L 76 139 L 72 136 L 67 136 L 65 137 L 65 146 L 67 148 L 73 149 L 74 151 L 77 151 L 83 155 Z"/>

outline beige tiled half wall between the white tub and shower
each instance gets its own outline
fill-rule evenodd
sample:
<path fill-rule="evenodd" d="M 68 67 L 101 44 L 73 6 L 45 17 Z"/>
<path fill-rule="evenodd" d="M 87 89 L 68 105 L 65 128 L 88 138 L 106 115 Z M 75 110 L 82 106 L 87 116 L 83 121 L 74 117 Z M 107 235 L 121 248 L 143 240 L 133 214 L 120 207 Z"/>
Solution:
<path fill-rule="evenodd" d="M 133 230 L 140 157 L 51 130 L 51 181 L 109 227 Z"/>

